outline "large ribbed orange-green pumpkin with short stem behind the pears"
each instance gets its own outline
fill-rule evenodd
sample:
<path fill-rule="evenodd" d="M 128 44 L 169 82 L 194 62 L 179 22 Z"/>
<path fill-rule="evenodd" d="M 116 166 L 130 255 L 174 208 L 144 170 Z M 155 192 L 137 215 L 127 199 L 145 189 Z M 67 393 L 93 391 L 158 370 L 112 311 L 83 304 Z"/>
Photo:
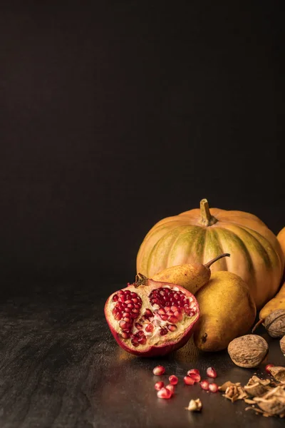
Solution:
<path fill-rule="evenodd" d="M 256 216 L 237 210 L 200 208 L 167 217 L 145 236 L 137 255 L 137 272 L 152 277 L 166 267 L 207 263 L 222 253 L 212 272 L 229 270 L 249 285 L 257 308 L 279 289 L 284 255 L 276 235 Z"/>

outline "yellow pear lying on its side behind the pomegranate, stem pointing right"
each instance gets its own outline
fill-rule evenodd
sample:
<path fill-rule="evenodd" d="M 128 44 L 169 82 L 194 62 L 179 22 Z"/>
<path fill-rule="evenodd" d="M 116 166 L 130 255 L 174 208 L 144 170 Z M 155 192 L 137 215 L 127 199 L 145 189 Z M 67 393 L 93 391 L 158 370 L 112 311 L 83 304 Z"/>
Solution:
<path fill-rule="evenodd" d="M 153 275 L 152 280 L 181 285 L 181 287 L 186 288 L 195 295 L 195 293 L 209 281 L 211 277 L 211 270 L 209 267 L 220 258 L 229 256 L 229 253 L 223 253 L 210 260 L 205 265 L 202 265 L 202 263 L 187 263 L 185 265 L 167 267 L 161 270 L 161 272 Z"/>

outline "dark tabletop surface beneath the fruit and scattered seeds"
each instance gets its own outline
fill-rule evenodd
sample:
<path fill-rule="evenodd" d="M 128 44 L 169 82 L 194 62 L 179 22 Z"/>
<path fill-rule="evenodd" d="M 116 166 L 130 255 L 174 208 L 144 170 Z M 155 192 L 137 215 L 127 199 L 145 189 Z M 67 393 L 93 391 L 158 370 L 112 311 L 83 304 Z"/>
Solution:
<path fill-rule="evenodd" d="M 254 370 L 233 365 L 227 352 L 202 355 L 191 342 L 162 359 L 140 359 L 120 350 L 103 315 L 105 290 L 76 285 L 38 285 L 2 290 L 0 305 L 0 427 L 283 427 L 284 419 L 245 412 L 222 394 L 186 387 L 191 367 L 217 369 L 217 383 L 247 383 Z M 48 291 L 47 291 L 48 290 Z M 259 330 L 263 334 L 263 330 Z M 270 340 L 269 362 L 284 365 L 278 340 Z M 160 362 L 177 374 L 175 397 L 157 399 L 152 368 Z M 259 370 L 257 370 L 259 373 Z M 167 376 L 162 378 L 167 379 Z M 191 398 L 201 414 L 187 412 Z"/>

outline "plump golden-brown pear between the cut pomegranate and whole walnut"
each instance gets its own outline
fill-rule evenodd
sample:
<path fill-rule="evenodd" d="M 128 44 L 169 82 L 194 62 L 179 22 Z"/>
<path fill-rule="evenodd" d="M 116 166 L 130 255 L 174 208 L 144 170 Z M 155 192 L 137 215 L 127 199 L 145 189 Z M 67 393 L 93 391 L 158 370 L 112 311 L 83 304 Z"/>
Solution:
<path fill-rule="evenodd" d="M 194 342 L 199 350 L 220 351 L 252 327 L 257 307 L 249 286 L 238 275 L 221 270 L 197 292 L 200 317 Z"/>

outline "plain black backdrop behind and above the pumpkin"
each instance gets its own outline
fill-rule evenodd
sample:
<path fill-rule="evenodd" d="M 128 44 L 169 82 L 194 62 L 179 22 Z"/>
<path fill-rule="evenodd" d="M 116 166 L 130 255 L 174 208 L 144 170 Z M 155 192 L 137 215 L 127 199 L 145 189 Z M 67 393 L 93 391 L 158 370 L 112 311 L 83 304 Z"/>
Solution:
<path fill-rule="evenodd" d="M 199 207 L 285 226 L 281 1 L 1 6 L 1 282 L 128 282 Z"/>

